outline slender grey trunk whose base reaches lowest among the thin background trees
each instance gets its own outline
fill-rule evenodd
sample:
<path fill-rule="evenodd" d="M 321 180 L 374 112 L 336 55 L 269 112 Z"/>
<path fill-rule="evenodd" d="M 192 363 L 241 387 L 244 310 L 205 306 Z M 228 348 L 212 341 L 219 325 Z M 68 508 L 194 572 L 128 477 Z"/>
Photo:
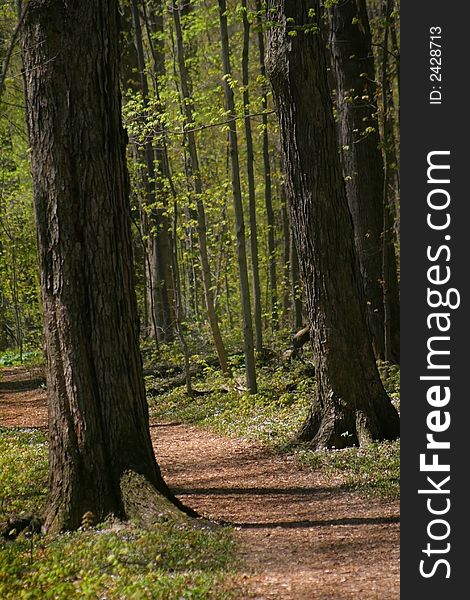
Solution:
<path fill-rule="evenodd" d="M 251 303 L 250 303 L 250 284 L 248 282 L 248 267 L 246 261 L 246 241 L 245 241 L 245 219 L 243 216 L 243 202 L 240 185 L 240 163 L 238 159 L 238 140 L 237 140 L 237 125 L 235 101 L 233 90 L 230 87 L 230 82 L 227 78 L 231 78 L 232 70 L 230 67 L 230 50 L 228 43 L 228 26 L 227 26 L 227 6 L 225 0 L 219 0 L 219 17 L 220 17 L 220 37 L 222 42 L 222 62 L 224 73 L 224 94 L 225 104 L 228 112 L 229 123 L 229 143 L 230 143 L 230 161 L 232 169 L 232 192 L 233 203 L 235 209 L 235 221 L 237 230 L 237 258 L 238 270 L 240 278 L 240 296 L 242 304 L 242 319 L 243 319 L 243 340 L 245 350 L 245 370 L 246 382 L 251 393 L 256 394 L 256 366 L 255 355 L 253 348 L 253 324 L 251 318 Z"/>

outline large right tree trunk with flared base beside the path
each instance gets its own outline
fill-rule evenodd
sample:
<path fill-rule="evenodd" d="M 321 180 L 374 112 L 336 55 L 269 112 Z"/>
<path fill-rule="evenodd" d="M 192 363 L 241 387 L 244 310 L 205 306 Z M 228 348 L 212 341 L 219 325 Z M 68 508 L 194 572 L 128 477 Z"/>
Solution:
<path fill-rule="evenodd" d="M 328 90 L 317 0 L 270 0 L 268 71 L 276 99 L 317 391 L 299 438 L 341 448 L 398 436 L 375 364 Z M 292 35 L 289 35 L 292 34 Z"/>

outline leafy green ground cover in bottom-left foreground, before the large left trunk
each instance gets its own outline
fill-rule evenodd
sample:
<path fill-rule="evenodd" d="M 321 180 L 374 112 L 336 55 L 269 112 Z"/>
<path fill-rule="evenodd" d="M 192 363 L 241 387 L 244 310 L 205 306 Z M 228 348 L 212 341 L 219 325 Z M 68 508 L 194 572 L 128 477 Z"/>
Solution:
<path fill-rule="evenodd" d="M 230 598 L 232 560 L 228 529 L 171 521 L 139 529 L 110 522 L 32 543 L 3 542 L 0 597 Z"/>

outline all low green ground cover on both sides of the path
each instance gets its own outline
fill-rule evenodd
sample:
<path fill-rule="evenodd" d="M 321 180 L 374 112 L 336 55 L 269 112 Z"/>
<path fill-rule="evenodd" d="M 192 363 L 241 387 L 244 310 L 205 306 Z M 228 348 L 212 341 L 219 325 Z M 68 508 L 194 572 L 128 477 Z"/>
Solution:
<path fill-rule="evenodd" d="M 179 358 L 175 361 L 167 350 L 165 359 L 173 359 L 175 372 Z M 299 468 L 339 474 L 345 485 L 361 493 L 398 498 L 399 441 L 336 451 L 288 449 L 315 388 L 308 354 L 306 358 L 304 363 L 259 365 L 255 395 L 243 390 L 239 355 L 232 359 L 233 381 L 206 366 L 194 379 L 194 398 L 184 386 L 150 397 L 151 416 L 256 440 L 292 453 Z M 204 365 L 203 356 L 197 360 Z M 380 371 L 398 408 L 399 369 L 388 365 Z M 148 377 L 148 389 L 153 385 Z M 37 513 L 46 492 L 46 434 L 0 429 L 0 521 L 11 514 Z M 13 542 L 1 541 L 0 598 L 224 599 L 237 594 L 234 565 L 230 529 L 171 520 L 150 529 L 109 522 L 54 538 L 20 535 Z"/>

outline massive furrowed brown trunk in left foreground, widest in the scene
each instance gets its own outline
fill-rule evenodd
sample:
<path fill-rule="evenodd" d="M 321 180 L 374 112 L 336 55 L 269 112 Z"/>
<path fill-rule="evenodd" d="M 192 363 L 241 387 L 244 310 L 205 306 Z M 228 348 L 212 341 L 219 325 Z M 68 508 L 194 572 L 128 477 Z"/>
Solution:
<path fill-rule="evenodd" d="M 172 498 L 152 450 L 139 352 L 117 21 L 115 0 L 32 0 L 23 30 L 48 372 L 48 530 L 77 528 L 86 512 L 125 517 L 127 472 Z"/>

